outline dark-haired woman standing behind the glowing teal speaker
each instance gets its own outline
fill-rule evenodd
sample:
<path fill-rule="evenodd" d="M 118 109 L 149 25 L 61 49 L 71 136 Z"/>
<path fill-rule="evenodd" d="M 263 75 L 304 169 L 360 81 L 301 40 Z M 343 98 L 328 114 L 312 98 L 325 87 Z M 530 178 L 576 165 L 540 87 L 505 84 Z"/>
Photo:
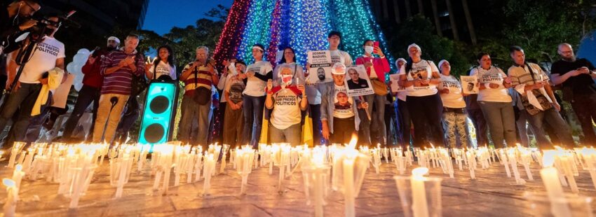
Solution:
<path fill-rule="evenodd" d="M 145 76 L 149 80 L 166 78 L 168 80 L 176 80 L 176 65 L 174 62 L 174 52 L 169 45 L 162 45 L 157 48 L 158 56 L 153 62 L 145 64 Z M 165 77 L 162 77 L 165 76 Z"/>

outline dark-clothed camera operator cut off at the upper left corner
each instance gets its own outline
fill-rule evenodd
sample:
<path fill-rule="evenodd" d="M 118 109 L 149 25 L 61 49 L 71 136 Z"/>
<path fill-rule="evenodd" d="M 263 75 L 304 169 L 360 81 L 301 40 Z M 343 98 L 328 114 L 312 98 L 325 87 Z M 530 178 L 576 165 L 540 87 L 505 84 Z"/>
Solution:
<path fill-rule="evenodd" d="M 4 9 L 1 9 L 4 8 Z M 36 20 L 25 20 L 41 9 L 37 0 L 2 1 L 0 3 L 0 87 L 6 83 L 6 56 L 18 49 L 15 38 Z"/>

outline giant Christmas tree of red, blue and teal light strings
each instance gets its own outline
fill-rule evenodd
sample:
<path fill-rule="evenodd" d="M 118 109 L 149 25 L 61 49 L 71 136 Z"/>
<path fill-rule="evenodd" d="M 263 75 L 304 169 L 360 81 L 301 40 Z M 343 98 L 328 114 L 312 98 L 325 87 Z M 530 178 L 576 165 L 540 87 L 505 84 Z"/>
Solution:
<path fill-rule="evenodd" d="M 363 54 L 365 39 L 379 41 L 384 53 L 389 53 L 368 0 L 236 0 L 215 48 L 215 59 L 222 62 L 235 56 L 252 62 L 252 45 L 260 43 L 266 46 L 272 64 L 276 52 L 290 46 L 297 62 L 304 65 L 307 51 L 327 50 L 327 34 L 332 30 L 343 34 L 340 49 L 354 59 Z"/>

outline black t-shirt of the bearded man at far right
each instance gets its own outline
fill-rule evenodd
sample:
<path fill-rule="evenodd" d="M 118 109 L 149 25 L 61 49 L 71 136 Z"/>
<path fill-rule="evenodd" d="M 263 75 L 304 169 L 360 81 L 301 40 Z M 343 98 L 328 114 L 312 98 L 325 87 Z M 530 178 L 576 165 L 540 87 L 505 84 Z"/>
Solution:
<path fill-rule="evenodd" d="M 576 59 L 575 62 L 567 62 L 564 60 L 559 60 L 553 63 L 553 66 L 550 68 L 551 74 L 560 74 L 561 76 L 569 71 L 581 68 L 583 66 L 588 67 L 590 70 L 594 70 L 594 65 L 588 59 Z M 592 80 L 592 76 L 589 74 L 581 74 L 578 76 L 570 77 L 569 79 L 565 80 L 563 83 L 563 87 L 571 87 L 571 90 L 574 94 L 589 94 L 594 92 L 591 85 L 594 84 L 594 80 Z"/>

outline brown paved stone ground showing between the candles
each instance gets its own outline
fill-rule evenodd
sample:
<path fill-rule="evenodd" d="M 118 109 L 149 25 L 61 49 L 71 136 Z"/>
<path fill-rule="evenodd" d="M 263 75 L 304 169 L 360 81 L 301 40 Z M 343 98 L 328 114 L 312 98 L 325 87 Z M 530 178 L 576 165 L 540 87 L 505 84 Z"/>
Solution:
<path fill-rule="evenodd" d="M 0 162 L 0 177 L 11 176 L 12 170 Z M 455 166 L 456 167 L 456 166 Z M 219 165 L 217 165 L 219 171 Z M 408 168 L 409 171 L 412 168 Z M 523 168 L 522 178 L 527 179 Z M 507 178 L 503 166 L 493 164 L 489 169 L 476 171 L 476 180 L 469 173 L 457 171 L 455 179 L 442 174 L 440 168 L 431 169 L 431 176 L 442 177 L 443 216 L 548 216 L 548 207 L 533 205 L 524 193 L 544 195 L 539 165 L 531 167 L 535 181 L 516 186 L 515 179 Z M 357 216 L 403 216 L 393 175 L 393 164 L 383 164 L 381 174 L 374 168 L 367 171 L 360 195 L 355 200 Z M 204 197 L 203 181 L 171 187 L 167 194 L 157 195 L 151 190 L 153 177 L 147 170 L 133 172 L 124 188 L 123 197 L 114 199 L 116 188 L 109 185 L 109 164 L 95 172 L 94 181 L 86 195 L 81 197 L 78 209 L 68 209 L 69 199 L 57 195 L 57 183 L 22 181 L 18 216 L 313 216 L 313 207 L 306 206 L 302 174 L 295 172 L 285 181 L 285 192 L 277 191 L 278 169 L 269 175 L 268 168 L 253 170 L 248 177 L 246 195 L 240 195 L 241 177 L 228 164 L 225 174 L 212 178 L 211 195 Z M 588 172 L 576 177 L 579 195 L 596 197 L 596 190 Z M 186 181 L 186 179 L 181 179 Z M 173 174 L 170 179 L 173 186 Z M 565 191 L 570 193 L 569 188 Z M 37 199 L 39 197 L 39 200 Z M 6 202 L 4 190 L 0 202 Z M 596 210 L 595 203 L 592 209 Z M 327 197 L 326 216 L 343 216 L 344 200 L 341 193 Z"/>

